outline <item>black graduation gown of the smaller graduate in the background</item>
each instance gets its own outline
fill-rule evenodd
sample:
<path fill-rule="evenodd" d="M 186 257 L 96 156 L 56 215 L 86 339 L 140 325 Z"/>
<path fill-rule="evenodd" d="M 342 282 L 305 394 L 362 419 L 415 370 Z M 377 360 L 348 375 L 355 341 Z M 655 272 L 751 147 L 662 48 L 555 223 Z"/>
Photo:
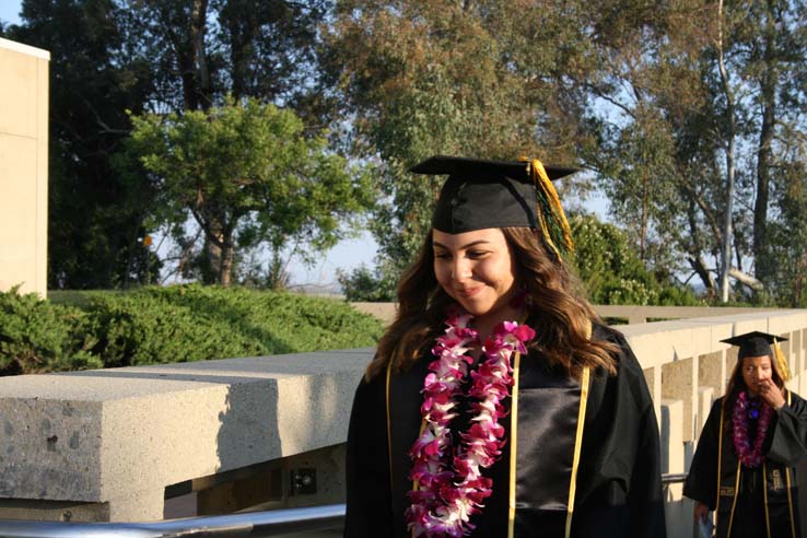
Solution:
<path fill-rule="evenodd" d="M 723 398 L 712 405 L 683 494 L 717 510 L 717 538 L 727 538 L 729 528 L 732 538 L 802 536 L 794 467 L 807 455 L 807 402 L 790 391 L 785 400 L 762 445 L 764 465 L 756 468 L 738 465 L 730 425 L 723 425 L 721 438 Z"/>

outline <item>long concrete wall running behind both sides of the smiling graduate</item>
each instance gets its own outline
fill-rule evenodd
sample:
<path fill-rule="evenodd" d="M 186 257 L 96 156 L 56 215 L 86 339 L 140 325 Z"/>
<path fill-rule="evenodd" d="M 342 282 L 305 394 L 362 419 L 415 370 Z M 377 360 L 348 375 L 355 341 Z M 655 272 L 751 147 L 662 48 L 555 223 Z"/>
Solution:
<path fill-rule="evenodd" d="M 654 397 L 664 472 L 689 468 L 736 363 L 718 340 L 749 330 L 790 338 L 782 347 L 795 374 L 790 387 L 807 394 L 807 311 L 620 329 Z M 349 410 L 372 354 L 0 378 L 0 518 L 148 521 L 340 502 Z M 692 537 L 680 484 L 666 499 L 669 536 Z"/>

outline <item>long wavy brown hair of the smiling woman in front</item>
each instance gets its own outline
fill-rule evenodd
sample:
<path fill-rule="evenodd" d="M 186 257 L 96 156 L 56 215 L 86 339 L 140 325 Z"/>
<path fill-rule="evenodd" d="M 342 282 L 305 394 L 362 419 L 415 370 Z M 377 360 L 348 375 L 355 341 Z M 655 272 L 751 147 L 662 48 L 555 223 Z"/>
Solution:
<path fill-rule="evenodd" d="M 560 366 L 580 378 L 584 366 L 616 373 L 612 354 L 617 346 L 590 338 L 592 323 L 599 323 L 584 299 L 577 280 L 566 267 L 547 254 L 537 234 L 526 227 L 501 229 L 513 253 L 516 285 L 526 290 L 526 304 L 538 349 L 550 366 Z M 434 340 L 445 330 L 446 307 L 454 303 L 434 274 L 432 234 L 398 284 L 398 312 L 378 342 L 366 378 L 375 377 L 389 362 L 395 372 L 408 370 L 430 353 Z"/>

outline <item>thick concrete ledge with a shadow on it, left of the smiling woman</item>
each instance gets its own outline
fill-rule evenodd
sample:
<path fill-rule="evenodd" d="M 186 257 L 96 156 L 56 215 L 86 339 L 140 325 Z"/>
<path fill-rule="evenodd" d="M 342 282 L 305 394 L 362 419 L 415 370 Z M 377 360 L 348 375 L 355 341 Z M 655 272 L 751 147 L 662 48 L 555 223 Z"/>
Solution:
<path fill-rule="evenodd" d="M 372 349 L 0 378 L 0 498 L 109 502 L 343 443 Z"/>

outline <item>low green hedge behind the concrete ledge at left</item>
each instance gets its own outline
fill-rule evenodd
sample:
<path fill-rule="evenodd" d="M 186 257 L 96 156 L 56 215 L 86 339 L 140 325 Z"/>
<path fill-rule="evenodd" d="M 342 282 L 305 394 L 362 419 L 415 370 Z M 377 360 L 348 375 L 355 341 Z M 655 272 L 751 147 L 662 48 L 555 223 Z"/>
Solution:
<path fill-rule="evenodd" d="M 242 288 L 59 299 L 0 294 L 0 375 L 360 348 L 382 334 L 341 301 Z"/>

